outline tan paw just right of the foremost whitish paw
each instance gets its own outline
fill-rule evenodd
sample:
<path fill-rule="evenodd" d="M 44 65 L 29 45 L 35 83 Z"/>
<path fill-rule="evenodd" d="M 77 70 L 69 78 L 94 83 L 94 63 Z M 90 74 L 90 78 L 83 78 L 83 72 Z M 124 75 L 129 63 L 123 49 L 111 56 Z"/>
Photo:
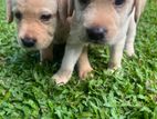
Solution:
<path fill-rule="evenodd" d="M 93 68 L 91 66 L 82 67 L 78 69 L 78 77 L 84 80 L 87 77 L 93 77 L 92 75 Z"/>

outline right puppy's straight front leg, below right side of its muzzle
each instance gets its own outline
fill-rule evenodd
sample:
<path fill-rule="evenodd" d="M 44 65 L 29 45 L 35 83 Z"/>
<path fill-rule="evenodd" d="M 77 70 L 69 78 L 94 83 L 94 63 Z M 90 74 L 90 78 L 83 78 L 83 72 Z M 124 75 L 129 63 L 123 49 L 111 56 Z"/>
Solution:
<path fill-rule="evenodd" d="M 116 70 L 121 68 L 125 38 L 123 38 L 116 44 L 111 46 L 111 57 L 109 57 L 111 59 L 109 59 L 109 66 L 108 66 L 109 69 Z"/>

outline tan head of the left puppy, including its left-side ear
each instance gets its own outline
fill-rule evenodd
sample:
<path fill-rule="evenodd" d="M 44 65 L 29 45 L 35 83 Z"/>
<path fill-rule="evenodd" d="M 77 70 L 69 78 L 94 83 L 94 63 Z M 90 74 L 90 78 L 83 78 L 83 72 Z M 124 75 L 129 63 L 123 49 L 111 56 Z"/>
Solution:
<path fill-rule="evenodd" d="M 56 28 L 57 0 L 7 0 L 7 19 L 18 24 L 18 41 L 27 49 L 48 48 Z"/>

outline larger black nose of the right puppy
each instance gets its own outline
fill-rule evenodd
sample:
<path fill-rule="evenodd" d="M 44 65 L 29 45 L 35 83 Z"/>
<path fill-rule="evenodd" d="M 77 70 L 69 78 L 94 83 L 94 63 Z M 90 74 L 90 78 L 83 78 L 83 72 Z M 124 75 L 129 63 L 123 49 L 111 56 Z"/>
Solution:
<path fill-rule="evenodd" d="M 86 33 L 91 40 L 102 40 L 107 30 L 105 28 L 87 28 Z"/>

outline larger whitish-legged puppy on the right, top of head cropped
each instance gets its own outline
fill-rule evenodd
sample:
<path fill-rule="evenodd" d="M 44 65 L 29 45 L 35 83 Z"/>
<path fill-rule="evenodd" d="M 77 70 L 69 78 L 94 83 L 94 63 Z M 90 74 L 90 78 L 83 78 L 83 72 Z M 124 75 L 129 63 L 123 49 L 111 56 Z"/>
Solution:
<path fill-rule="evenodd" d="M 74 17 L 60 70 L 54 75 L 56 83 L 66 83 L 85 46 L 109 44 L 109 68 L 121 67 L 123 50 L 133 56 L 137 21 L 146 0 L 72 0 Z M 91 71 L 87 52 L 80 58 L 81 76 Z"/>

